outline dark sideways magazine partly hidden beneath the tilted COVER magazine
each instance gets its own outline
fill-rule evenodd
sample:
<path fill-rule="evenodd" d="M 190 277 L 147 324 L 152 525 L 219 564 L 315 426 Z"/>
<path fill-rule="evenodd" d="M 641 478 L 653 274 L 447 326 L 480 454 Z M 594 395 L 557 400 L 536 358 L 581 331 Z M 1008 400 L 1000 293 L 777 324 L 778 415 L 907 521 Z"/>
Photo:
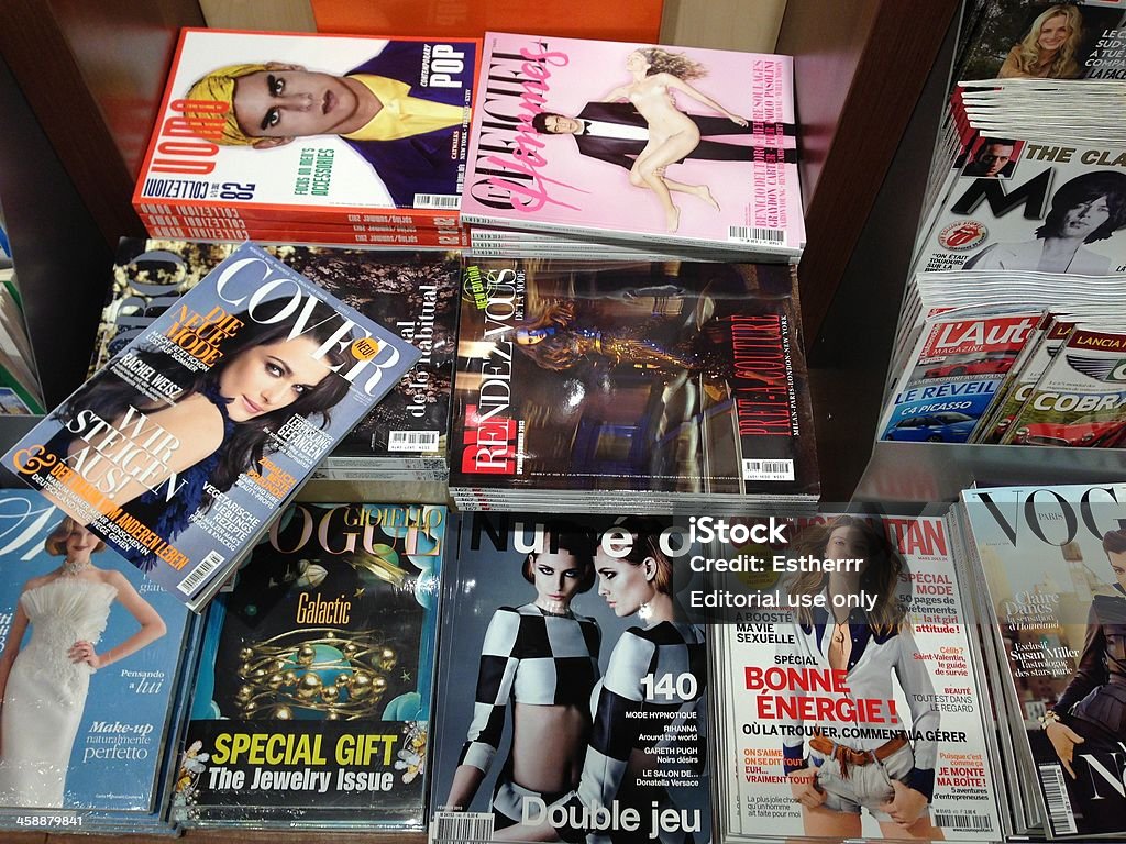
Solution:
<path fill-rule="evenodd" d="M 123 239 L 90 375 L 234 249 L 233 244 Z M 421 352 L 321 469 L 409 467 L 419 479 L 445 478 L 461 289 L 458 257 L 294 245 L 262 245 L 262 250 Z"/>

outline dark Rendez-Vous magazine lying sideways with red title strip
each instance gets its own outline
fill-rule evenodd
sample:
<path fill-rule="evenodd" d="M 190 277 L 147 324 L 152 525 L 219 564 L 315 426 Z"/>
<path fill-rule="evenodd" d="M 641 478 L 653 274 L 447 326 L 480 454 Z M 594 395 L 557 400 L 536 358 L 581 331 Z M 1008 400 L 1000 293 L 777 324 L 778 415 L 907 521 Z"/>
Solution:
<path fill-rule="evenodd" d="M 787 266 L 498 259 L 464 278 L 452 486 L 815 493 Z"/>

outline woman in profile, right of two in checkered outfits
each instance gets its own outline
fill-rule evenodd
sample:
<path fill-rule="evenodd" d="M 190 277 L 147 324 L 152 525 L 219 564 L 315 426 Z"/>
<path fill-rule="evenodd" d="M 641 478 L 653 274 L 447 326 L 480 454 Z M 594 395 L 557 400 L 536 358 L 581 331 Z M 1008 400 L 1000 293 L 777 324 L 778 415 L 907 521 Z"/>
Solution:
<path fill-rule="evenodd" d="M 607 547 L 617 547 L 623 533 L 631 538 L 625 556 L 607 553 Z M 649 835 L 653 830 L 647 829 L 650 812 L 654 806 L 669 808 L 671 799 L 664 788 L 637 784 L 645 779 L 645 769 L 660 767 L 662 760 L 668 758 L 660 755 L 669 749 L 663 739 L 651 737 L 663 734 L 668 725 L 703 722 L 701 713 L 692 721 L 679 719 L 689 711 L 699 713 L 707 694 L 704 630 L 677 620 L 683 613 L 673 596 L 672 562 L 661 550 L 660 535 L 661 524 L 655 520 L 628 517 L 599 541 L 595 556 L 598 594 L 606 599 L 615 616 L 637 616 L 644 626 L 628 628 L 614 646 L 606 676 L 592 700 L 595 727 L 582 779 L 578 790 L 561 801 L 571 818 L 589 817 L 596 805 L 609 807 L 614 800 L 623 807 L 640 807 L 645 819 L 642 827 L 636 833 L 619 829 L 607 834 L 593 833 L 582 825 L 553 827 L 547 823 L 529 823 L 506 829 L 497 838 L 586 839 L 590 844 L 609 838 L 649 844 L 654 841 Z M 671 681 L 679 682 L 678 692 L 670 698 L 664 690 Z M 678 697 L 680 691 L 686 693 L 685 698 Z M 703 734 L 699 737 L 703 740 Z M 686 749 L 681 744 L 677 747 Z M 697 751 L 697 758 L 704 760 L 705 748 L 700 746 Z M 659 835 L 662 844 L 691 839 L 690 830 L 662 829 Z"/>

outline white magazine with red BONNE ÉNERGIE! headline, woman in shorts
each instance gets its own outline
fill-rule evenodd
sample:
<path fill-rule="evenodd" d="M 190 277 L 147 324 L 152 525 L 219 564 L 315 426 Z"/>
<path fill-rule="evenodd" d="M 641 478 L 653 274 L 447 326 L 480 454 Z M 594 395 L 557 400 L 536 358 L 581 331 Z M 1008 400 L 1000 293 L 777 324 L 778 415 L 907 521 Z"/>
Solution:
<path fill-rule="evenodd" d="M 1000 841 L 988 693 L 942 520 L 804 522 L 756 555 L 772 576 L 742 575 L 759 581 L 747 598 L 776 591 L 780 605 L 712 628 L 729 841 L 762 818 L 779 838 Z"/>

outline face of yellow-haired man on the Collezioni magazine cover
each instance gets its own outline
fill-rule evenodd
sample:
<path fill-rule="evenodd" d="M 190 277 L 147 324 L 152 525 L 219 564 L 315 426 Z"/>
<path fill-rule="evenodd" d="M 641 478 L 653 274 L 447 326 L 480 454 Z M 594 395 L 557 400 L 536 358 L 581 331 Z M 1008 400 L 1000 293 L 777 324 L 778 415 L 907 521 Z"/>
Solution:
<path fill-rule="evenodd" d="M 234 116 L 251 137 L 336 135 L 358 108 L 340 77 L 304 70 L 265 70 L 240 77 Z"/>

